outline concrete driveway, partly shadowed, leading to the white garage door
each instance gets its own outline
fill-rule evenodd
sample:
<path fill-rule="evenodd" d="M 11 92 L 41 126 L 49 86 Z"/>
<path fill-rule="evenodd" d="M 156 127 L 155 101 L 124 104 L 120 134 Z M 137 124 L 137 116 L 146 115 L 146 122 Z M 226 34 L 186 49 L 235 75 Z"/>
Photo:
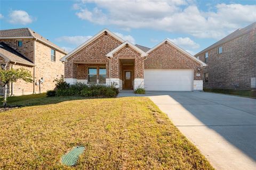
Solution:
<path fill-rule="evenodd" d="M 216 169 L 256 169 L 255 99 L 190 91 L 140 96 L 154 101 Z"/>

